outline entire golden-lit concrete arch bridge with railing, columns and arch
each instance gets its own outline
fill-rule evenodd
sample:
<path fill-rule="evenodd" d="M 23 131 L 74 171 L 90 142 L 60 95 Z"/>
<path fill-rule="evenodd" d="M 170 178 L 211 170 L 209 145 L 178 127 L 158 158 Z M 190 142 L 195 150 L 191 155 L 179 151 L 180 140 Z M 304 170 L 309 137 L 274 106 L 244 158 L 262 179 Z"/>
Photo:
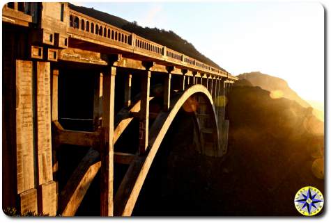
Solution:
<path fill-rule="evenodd" d="M 180 110 L 194 114 L 201 154 L 226 153 L 236 77 L 68 3 L 6 3 L 2 13 L 4 208 L 75 215 L 100 171 L 100 215 L 131 215 Z M 118 142 L 132 140 L 129 129 L 130 152 Z M 68 179 L 63 145 L 91 148 Z M 114 163 L 127 168 L 116 190 Z"/>

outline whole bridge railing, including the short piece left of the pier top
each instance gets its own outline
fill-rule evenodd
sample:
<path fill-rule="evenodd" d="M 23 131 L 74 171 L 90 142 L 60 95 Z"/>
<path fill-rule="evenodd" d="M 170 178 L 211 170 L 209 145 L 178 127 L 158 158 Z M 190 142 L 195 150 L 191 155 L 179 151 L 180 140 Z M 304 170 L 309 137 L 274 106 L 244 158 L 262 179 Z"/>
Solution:
<path fill-rule="evenodd" d="M 29 26 L 29 23 L 36 23 L 38 22 L 37 7 L 38 3 L 6 3 L 2 9 L 3 22 L 10 22 L 21 26 Z M 73 35 L 73 38 L 94 42 L 95 44 L 103 42 L 106 43 L 106 46 L 115 47 L 122 51 L 129 51 L 158 60 L 169 61 L 175 65 L 190 67 L 201 72 L 231 76 L 227 72 L 190 58 L 183 53 L 142 38 L 134 33 L 124 31 L 121 28 L 102 22 L 84 13 L 69 9 L 66 15 L 69 16 L 66 20 L 68 21 L 67 33 Z"/>

